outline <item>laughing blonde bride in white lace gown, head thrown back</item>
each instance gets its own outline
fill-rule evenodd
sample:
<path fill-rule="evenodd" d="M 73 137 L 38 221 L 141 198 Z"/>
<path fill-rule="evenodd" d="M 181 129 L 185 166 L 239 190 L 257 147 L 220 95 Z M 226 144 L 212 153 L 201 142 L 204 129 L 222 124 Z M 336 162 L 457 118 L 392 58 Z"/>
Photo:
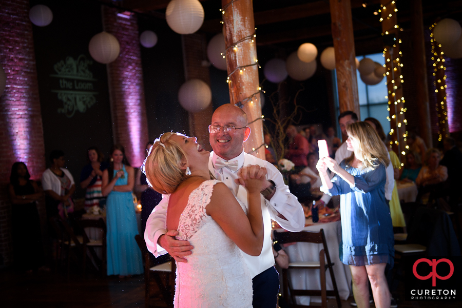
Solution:
<path fill-rule="evenodd" d="M 150 186 L 169 194 L 167 230 L 194 246 L 177 263 L 175 307 L 252 308 L 252 278 L 239 249 L 258 256 L 263 247 L 260 188 L 266 169 L 243 167 L 248 210 L 226 185 L 210 179 L 209 152 L 196 137 L 165 133 L 154 141 L 142 171 Z M 246 212 L 246 213 L 245 213 Z"/>

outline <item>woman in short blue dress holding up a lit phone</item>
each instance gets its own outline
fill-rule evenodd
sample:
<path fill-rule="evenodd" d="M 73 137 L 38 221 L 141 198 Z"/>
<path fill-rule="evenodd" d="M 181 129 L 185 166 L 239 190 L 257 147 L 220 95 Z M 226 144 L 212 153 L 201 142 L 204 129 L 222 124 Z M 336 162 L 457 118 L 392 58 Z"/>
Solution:
<path fill-rule="evenodd" d="M 369 307 L 368 277 L 376 307 L 390 307 L 391 294 L 384 275 L 393 266 L 394 239 L 390 209 L 385 199 L 387 149 L 365 122 L 347 128 L 351 157 L 340 166 L 325 157 L 317 169 L 326 193 L 340 196 L 342 241 L 340 260 L 350 265 L 353 295 L 358 307 Z M 336 174 L 330 180 L 327 169 Z"/>

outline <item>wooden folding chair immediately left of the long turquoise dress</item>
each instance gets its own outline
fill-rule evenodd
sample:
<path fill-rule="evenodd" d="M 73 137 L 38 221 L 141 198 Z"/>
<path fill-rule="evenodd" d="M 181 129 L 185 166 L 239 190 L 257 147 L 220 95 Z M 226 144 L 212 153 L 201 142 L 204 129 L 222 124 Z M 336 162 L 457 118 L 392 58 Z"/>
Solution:
<path fill-rule="evenodd" d="M 106 275 L 106 222 L 102 218 L 98 220 L 91 219 L 81 219 L 79 220 L 79 226 L 82 229 L 83 236 L 83 268 L 84 275 L 86 270 L 86 261 L 87 261 L 87 250 L 90 252 L 91 257 L 97 264 L 101 274 Z M 95 228 L 101 230 L 102 236 L 99 239 L 90 239 L 85 231 L 86 228 Z M 98 257 L 98 254 L 94 250 L 95 247 L 99 247 L 102 250 L 101 258 Z"/>

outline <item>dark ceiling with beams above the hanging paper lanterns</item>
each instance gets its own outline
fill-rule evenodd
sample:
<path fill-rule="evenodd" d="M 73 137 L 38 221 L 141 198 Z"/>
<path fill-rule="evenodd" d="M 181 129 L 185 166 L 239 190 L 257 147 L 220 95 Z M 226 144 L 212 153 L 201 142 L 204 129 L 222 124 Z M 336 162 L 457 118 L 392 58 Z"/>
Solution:
<path fill-rule="evenodd" d="M 199 1 L 205 11 L 204 24 L 199 31 L 210 36 L 220 32 L 221 1 Z M 111 3 L 126 10 L 165 18 L 169 0 L 123 0 Z M 296 49 L 307 42 L 321 49 L 332 46 L 329 0 L 255 0 L 253 4 L 257 45 L 287 50 Z M 410 4 L 411 0 L 396 0 L 398 23 L 404 31 L 411 27 Z M 380 51 L 383 47 L 380 17 L 374 15 L 380 8 L 380 0 L 351 0 L 351 7 L 356 53 Z M 422 0 L 422 7 L 425 28 L 438 18 L 462 20 L 462 0 Z"/>

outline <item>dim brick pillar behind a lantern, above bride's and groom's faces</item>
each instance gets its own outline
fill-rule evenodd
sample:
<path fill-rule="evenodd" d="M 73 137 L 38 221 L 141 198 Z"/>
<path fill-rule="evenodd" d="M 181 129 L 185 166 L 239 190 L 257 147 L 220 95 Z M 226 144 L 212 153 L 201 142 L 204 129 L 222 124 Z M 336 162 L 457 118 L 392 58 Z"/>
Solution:
<path fill-rule="evenodd" d="M 183 46 L 184 76 L 186 80 L 200 79 L 210 86 L 210 74 L 203 61 L 207 61 L 207 41 L 205 34 L 194 33 L 181 36 Z M 201 112 L 189 112 L 189 134 L 197 137 L 207 151 L 211 151 L 208 139 L 208 126 L 211 123 L 213 104 Z"/>

